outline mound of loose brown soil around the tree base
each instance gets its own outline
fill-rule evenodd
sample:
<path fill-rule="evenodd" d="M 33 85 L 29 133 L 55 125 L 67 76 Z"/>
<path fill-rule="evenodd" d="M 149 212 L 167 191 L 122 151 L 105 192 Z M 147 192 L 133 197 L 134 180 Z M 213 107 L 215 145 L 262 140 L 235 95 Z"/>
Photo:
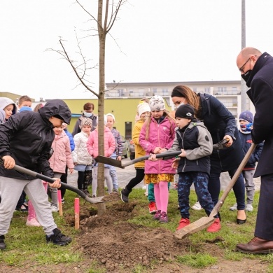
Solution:
<path fill-rule="evenodd" d="M 162 263 L 193 248 L 188 239 L 176 239 L 165 228 L 127 223 L 134 216 L 135 206 L 136 203 L 112 204 L 104 216 L 88 216 L 85 211 L 87 217 L 80 217 L 83 218 L 80 221 L 83 232 L 77 238 L 76 248 L 83 251 L 90 262 L 105 265 L 107 272 L 118 272 L 120 267 L 129 269 L 137 264 L 149 266 L 155 259 Z M 195 247 L 204 251 L 204 246 Z M 213 251 L 215 255 L 216 249 Z"/>

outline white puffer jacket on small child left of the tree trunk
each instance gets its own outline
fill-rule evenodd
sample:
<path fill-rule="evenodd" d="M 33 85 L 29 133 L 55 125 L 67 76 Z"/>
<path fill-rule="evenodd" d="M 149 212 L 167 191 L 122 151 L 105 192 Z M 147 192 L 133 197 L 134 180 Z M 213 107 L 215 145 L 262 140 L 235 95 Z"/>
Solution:
<path fill-rule="evenodd" d="M 92 165 L 92 156 L 87 151 L 88 135 L 84 132 L 75 134 L 74 136 L 75 149 L 72 152 L 73 162 L 77 165 Z"/>

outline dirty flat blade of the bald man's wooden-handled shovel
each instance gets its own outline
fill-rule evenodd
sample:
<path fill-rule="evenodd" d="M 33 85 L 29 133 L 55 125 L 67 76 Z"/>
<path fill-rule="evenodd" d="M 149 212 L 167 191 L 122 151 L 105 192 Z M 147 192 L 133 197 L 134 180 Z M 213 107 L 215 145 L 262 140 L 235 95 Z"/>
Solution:
<path fill-rule="evenodd" d="M 176 232 L 174 232 L 174 236 L 178 239 L 183 239 L 195 232 L 204 230 L 204 228 L 208 228 L 212 223 L 214 223 L 214 220 L 214 217 L 202 217 L 199 220 L 191 223 L 190 225 L 187 225 L 185 228 L 181 228 L 181 230 L 176 230 Z"/>

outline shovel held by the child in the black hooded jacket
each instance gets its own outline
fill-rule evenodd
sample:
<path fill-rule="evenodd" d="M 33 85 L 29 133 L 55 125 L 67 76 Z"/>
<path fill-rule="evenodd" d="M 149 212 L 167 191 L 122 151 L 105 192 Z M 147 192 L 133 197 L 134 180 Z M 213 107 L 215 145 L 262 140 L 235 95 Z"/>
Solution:
<path fill-rule="evenodd" d="M 3 160 L 0 160 L 0 163 L 3 162 Z M 13 169 L 15 169 L 15 171 L 18 172 L 22 172 L 23 174 L 28 174 L 29 176 L 34 176 L 37 179 L 42 179 L 43 181 L 47 181 L 50 183 L 53 183 L 55 180 L 48 177 L 48 176 L 44 176 L 43 174 L 38 174 L 37 172 L 31 171 L 30 169 L 26 169 L 24 167 L 15 165 L 13 167 Z M 83 199 L 91 204 L 97 204 L 97 203 L 104 203 L 104 202 L 111 202 L 111 201 L 118 201 L 120 200 L 120 196 L 118 195 L 118 199 L 112 199 L 112 198 L 108 198 L 109 195 L 106 196 L 100 196 L 100 197 L 94 197 L 94 198 L 90 198 L 87 195 L 85 195 L 85 193 L 83 193 L 81 190 L 79 190 L 78 188 L 75 188 L 71 185 L 68 185 L 64 182 L 61 182 L 62 187 L 66 188 L 67 190 L 71 190 L 74 193 L 78 193 L 78 195 L 80 195 L 80 197 L 83 197 Z"/>

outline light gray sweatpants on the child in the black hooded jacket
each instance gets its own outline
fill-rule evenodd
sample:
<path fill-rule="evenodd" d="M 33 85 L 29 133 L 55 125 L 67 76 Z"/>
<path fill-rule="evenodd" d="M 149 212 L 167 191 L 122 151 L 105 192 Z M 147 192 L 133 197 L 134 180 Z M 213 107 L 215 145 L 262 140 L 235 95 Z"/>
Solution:
<path fill-rule="evenodd" d="M 55 224 L 48 202 L 48 195 L 40 179 L 20 180 L 0 176 L 2 201 L 0 203 L 0 235 L 6 235 L 10 227 L 13 211 L 23 190 L 31 200 L 36 212 L 38 223 L 43 227 L 46 235 L 52 235 L 57 225 Z"/>

